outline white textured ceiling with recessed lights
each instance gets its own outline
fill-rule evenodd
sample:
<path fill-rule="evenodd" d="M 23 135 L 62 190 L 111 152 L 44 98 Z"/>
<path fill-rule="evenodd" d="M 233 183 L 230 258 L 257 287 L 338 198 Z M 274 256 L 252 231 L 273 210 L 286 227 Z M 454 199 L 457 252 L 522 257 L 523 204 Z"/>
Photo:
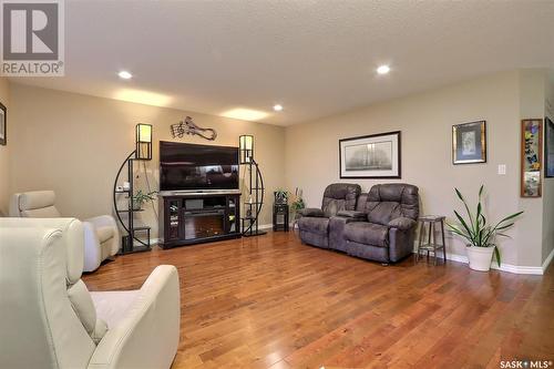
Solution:
<path fill-rule="evenodd" d="M 252 109 L 289 125 L 484 73 L 552 68 L 553 20 L 554 1 L 66 0 L 65 78 L 13 80 L 106 98 L 138 90 L 162 94 L 138 95 L 152 104 Z M 381 63 L 389 75 L 376 75 Z M 134 78 L 120 80 L 122 69 Z"/>

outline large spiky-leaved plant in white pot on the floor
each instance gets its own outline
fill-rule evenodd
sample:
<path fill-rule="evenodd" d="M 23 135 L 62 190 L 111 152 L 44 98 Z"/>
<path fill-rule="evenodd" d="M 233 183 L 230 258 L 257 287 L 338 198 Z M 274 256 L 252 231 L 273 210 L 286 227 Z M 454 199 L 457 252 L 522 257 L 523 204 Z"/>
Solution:
<path fill-rule="evenodd" d="M 470 268 L 473 270 L 489 271 L 491 268 L 492 256 L 494 254 L 496 263 L 501 265 L 501 255 L 499 247 L 496 246 L 496 236 L 509 237 L 503 232 L 514 225 L 515 218 L 523 214 L 523 212 L 517 212 L 512 215 L 504 217 L 502 221 L 492 225 L 486 222 L 486 217 L 483 214 L 483 206 L 481 204 L 481 197 L 483 195 L 484 186 L 481 185 L 478 195 L 478 206 L 475 213 L 470 211 L 468 203 L 462 196 L 462 193 L 455 189 L 458 198 L 463 203 L 468 217 L 464 218 L 454 211 L 454 215 L 460 222 L 460 224 L 447 223 L 448 227 L 452 233 L 462 237 L 466 243 L 468 259 L 470 260 Z"/>

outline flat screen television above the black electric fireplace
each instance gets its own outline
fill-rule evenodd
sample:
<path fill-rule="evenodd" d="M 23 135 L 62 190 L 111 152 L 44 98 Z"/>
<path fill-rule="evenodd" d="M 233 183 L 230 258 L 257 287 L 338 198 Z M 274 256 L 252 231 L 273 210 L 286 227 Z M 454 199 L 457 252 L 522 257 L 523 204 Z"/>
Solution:
<path fill-rule="evenodd" d="M 238 189 L 238 147 L 161 141 L 160 189 Z"/>

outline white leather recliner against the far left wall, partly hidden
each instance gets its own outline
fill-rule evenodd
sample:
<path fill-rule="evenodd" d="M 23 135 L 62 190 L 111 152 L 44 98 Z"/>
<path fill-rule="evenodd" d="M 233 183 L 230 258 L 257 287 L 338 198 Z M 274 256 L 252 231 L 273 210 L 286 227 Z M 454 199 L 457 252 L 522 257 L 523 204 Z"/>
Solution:
<path fill-rule="evenodd" d="M 53 191 L 33 191 L 14 194 L 10 203 L 10 216 L 29 218 L 58 218 Z M 120 230 L 115 219 L 101 215 L 83 222 L 84 271 L 96 270 L 100 264 L 115 256 L 120 249 Z"/>

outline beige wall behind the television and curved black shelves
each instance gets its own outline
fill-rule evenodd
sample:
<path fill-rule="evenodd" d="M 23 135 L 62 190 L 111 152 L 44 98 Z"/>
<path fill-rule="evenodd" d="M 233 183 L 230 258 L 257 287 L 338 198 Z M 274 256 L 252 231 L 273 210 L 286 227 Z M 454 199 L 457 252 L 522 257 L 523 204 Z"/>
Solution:
<path fill-rule="evenodd" d="M 144 122 L 154 125 L 154 160 L 146 170 L 154 189 L 158 186 L 158 144 L 174 141 L 170 125 L 191 115 L 218 135 L 213 144 L 238 145 L 238 136 L 254 134 L 268 194 L 284 185 L 285 130 L 279 126 L 183 112 L 75 93 L 45 90 L 22 84 L 11 85 L 10 191 L 52 188 L 63 215 L 85 218 L 112 213 L 112 185 L 123 160 L 134 150 L 134 127 Z M 13 123 L 14 122 L 14 123 Z M 206 144 L 201 137 L 181 142 Z M 144 186 L 144 173 L 138 173 Z M 157 206 L 156 206 L 157 208 Z M 152 209 L 141 222 L 154 228 Z M 270 224 L 270 206 L 265 206 L 260 224 Z M 156 229 L 153 236 L 156 237 Z"/>

